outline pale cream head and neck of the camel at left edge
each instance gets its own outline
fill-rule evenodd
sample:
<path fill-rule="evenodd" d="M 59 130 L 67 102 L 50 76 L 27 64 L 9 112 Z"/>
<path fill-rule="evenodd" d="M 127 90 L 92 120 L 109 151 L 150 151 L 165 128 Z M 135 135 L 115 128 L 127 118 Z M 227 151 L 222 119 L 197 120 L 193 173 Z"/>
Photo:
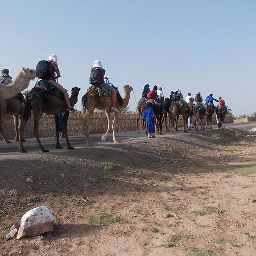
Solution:
<path fill-rule="evenodd" d="M 30 84 L 30 80 L 36 78 L 36 71 L 30 68 L 22 68 L 14 81 L 9 85 L 0 85 L 0 99 L 9 99 L 18 95 Z"/>

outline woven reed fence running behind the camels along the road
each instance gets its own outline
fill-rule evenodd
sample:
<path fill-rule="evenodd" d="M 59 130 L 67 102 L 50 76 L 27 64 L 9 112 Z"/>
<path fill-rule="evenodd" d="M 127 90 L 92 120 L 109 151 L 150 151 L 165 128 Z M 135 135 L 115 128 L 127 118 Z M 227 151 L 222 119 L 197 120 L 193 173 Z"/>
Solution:
<path fill-rule="evenodd" d="M 136 130 L 136 114 L 119 114 L 118 121 L 116 123 L 116 131 L 135 131 Z M 82 127 L 82 114 L 70 113 L 68 119 L 68 135 L 84 135 Z M 233 118 L 231 115 L 226 115 L 225 123 L 232 123 Z M 216 124 L 216 117 L 213 115 L 212 123 Z M 179 118 L 178 126 L 183 126 L 183 118 Z M 108 120 L 106 119 L 105 113 L 93 113 L 90 118 L 90 133 L 105 133 L 108 129 Z M 142 129 L 140 121 L 139 130 Z M 39 123 L 39 136 L 40 137 L 52 137 L 55 132 L 55 119 L 53 115 L 43 114 Z M 7 139 L 15 138 L 15 129 L 13 117 L 6 115 L 3 120 L 3 133 Z M 27 123 L 24 138 L 33 138 L 33 118 L 31 117 Z M 1 137 L 2 139 L 2 137 Z"/>

